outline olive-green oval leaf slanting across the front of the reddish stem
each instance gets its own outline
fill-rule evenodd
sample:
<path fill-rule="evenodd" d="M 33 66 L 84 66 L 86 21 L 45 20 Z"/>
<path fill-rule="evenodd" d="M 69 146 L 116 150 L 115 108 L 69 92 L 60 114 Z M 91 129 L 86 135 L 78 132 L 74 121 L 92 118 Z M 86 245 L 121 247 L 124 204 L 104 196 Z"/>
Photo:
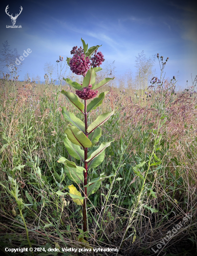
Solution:
<path fill-rule="evenodd" d="M 75 145 L 82 146 L 83 148 L 90 148 L 92 142 L 84 135 L 82 131 L 79 131 L 75 126 L 68 126 L 65 130 L 68 139 Z"/>

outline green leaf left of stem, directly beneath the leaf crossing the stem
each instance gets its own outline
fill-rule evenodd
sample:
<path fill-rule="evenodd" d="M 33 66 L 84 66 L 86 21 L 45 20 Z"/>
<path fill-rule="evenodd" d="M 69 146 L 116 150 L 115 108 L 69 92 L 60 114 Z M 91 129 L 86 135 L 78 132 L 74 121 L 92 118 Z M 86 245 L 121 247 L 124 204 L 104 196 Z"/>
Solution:
<path fill-rule="evenodd" d="M 64 145 L 69 152 L 69 154 L 73 157 L 75 157 L 77 160 L 82 160 L 84 162 L 84 150 L 81 149 L 79 146 L 73 144 L 65 135 L 64 138 Z"/>

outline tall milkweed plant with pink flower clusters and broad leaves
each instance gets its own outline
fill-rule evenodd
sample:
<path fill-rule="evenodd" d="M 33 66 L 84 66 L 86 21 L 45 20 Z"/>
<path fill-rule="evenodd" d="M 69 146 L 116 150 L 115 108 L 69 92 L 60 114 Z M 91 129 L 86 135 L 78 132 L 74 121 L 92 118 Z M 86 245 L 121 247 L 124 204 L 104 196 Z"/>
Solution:
<path fill-rule="evenodd" d="M 85 44 L 83 39 L 81 40 L 83 48 L 73 47 L 70 52 L 73 54 L 73 57 L 67 57 L 67 63 L 73 73 L 83 75 L 83 83 L 79 84 L 71 81 L 69 78 L 64 78 L 64 81 L 76 90 L 76 94 L 65 90 L 62 90 L 61 93 L 64 94 L 72 106 L 84 115 L 84 121 L 82 121 L 73 113 L 67 111 L 65 107 L 62 108 L 62 114 L 65 120 L 71 123 L 64 131 L 64 145 L 69 155 L 77 160 L 81 160 L 83 166 L 77 166 L 75 162 L 71 162 L 64 157 L 61 157 L 57 162 L 64 164 L 64 171 L 72 182 L 77 183 L 80 189 L 83 187 L 81 189 L 83 196 L 73 184 L 68 186 L 69 193 L 57 191 L 57 195 L 70 195 L 77 205 L 83 207 L 83 232 L 86 232 L 87 198 L 99 189 L 103 179 L 114 176 L 114 174 L 106 176 L 102 173 L 98 178 L 88 179 L 89 169 L 95 168 L 102 163 L 105 148 L 109 147 L 111 142 L 114 141 L 102 142 L 100 146 L 95 146 L 102 135 L 100 126 L 108 121 L 110 116 L 114 114 L 114 110 L 99 115 L 91 124 L 88 124 L 88 115 L 93 109 L 96 109 L 102 104 L 105 95 L 109 92 L 102 92 L 96 97 L 98 94 L 97 89 L 106 85 L 114 78 L 105 78 L 101 82 L 95 83 L 96 73 L 102 70 L 100 65 L 104 61 L 103 54 L 97 52 L 100 47 L 99 45 L 88 49 L 88 44 Z M 82 99 L 84 104 L 78 98 Z M 87 100 L 92 101 L 87 104 Z M 82 186 L 79 186 L 79 184 L 82 184 Z"/>

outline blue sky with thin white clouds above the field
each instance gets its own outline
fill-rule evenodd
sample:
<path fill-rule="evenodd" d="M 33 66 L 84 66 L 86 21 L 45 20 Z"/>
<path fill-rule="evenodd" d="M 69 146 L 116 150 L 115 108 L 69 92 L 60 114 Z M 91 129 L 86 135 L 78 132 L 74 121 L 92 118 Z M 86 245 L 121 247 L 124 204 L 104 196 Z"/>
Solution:
<path fill-rule="evenodd" d="M 19 13 L 12 25 L 5 13 Z M 178 84 L 191 85 L 197 75 L 197 3 L 170 0 L 21 0 L 6 1 L 0 11 L 0 44 L 8 40 L 11 49 L 20 55 L 30 48 L 20 79 L 25 73 L 44 78 L 44 63 L 56 65 L 59 55 L 71 57 L 73 46 L 83 46 L 81 37 L 99 48 L 109 63 L 115 61 L 117 75 L 131 69 L 135 74 L 135 56 L 144 50 L 146 57 L 159 53 L 164 60 L 166 77 L 176 75 Z M 159 75 L 159 62 L 155 68 Z"/>

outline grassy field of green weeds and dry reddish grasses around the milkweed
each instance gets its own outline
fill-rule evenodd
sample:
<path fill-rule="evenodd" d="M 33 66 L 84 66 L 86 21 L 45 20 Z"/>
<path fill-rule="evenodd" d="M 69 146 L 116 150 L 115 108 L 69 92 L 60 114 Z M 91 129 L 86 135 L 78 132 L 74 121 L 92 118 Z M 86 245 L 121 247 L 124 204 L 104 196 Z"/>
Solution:
<path fill-rule="evenodd" d="M 63 143 L 68 122 L 62 107 L 83 118 L 60 93 L 62 89 L 71 91 L 53 82 L 0 80 L 2 251 L 30 245 L 83 248 L 79 239 L 83 237 L 89 242 L 86 249 L 119 251 L 34 255 L 197 255 L 195 86 L 175 92 L 166 84 L 146 94 L 108 86 L 102 90 L 109 93 L 91 112 L 89 122 L 115 109 L 102 127 L 99 143 L 115 141 L 102 164 L 90 169 L 89 178 L 96 178 L 96 173 L 115 176 L 89 197 L 87 234 L 81 230 L 82 208 L 69 196 L 56 194 L 68 192 L 65 187 L 70 184 L 57 160 L 64 156 L 75 161 Z M 78 160 L 77 164 L 82 165 Z M 18 255 L 25 254 L 29 252 Z"/>

